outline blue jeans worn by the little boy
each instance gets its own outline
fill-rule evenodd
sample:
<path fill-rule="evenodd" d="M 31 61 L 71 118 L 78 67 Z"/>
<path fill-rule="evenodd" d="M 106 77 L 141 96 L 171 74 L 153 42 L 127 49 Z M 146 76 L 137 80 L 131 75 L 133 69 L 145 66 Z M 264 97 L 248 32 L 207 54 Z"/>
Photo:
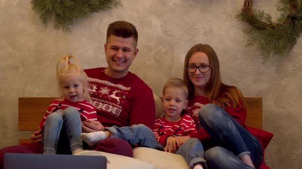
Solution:
<path fill-rule="evenodd" d="M 164 146 L 158 142 L 153 131 L 143 125 L 132 125 L 126 127 L 105 127 L 104 131 L 109 130 L 111 137 L 118 137 L 126 140 L 130 144 L 138 144 L 141 147 L 148 147 L 157 150 L 164 150 Z M 183 156 L 190 166 L 196 163 L 204 163 L 203 146 L 199 139 L 190 138 L 175 152 Z"/>

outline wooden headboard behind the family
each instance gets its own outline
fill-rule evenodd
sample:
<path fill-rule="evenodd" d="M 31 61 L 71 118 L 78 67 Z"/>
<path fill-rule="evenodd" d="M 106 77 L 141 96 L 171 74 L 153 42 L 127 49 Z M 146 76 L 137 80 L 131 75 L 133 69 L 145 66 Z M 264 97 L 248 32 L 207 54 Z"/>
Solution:
<path fill-rule="evenodd" d="M 56 97 L 21 97 L 18 102 L 18 130 L 36 131 L 49 104 Z M 248 104 L 246 125 L 262 129 L 262 98 L 246 97 Z M 19 144 L 29 143 L 30 139 L 19 139 Z"/>

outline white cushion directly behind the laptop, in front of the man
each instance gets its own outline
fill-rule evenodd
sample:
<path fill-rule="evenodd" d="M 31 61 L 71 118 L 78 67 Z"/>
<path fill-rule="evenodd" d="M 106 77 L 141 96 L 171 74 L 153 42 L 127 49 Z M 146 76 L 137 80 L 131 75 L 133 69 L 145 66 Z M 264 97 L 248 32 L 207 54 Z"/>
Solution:
<path fill-rule="evenodd" d="M 147 162 L 111 153 L 104 153 L 99 151 L 83 151 L 76 153 L 75 155 L 105 156 L 107 158 L 107 169 L 155 169 L 154 165 Z"/>

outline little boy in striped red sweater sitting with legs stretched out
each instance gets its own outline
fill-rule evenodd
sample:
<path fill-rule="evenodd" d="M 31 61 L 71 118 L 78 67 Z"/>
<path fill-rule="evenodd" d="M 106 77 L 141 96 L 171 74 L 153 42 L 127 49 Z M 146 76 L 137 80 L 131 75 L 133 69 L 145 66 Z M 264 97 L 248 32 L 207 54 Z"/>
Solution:
<path fill-rule="evenodd" d="M 154 130 L 145 125 L 130 127 L 105 127 L 104 131 L 81 133 L 81 138 L 90 146 L 108 137 L 118 137 L 131 144 L 164 150 L 182 155 L 193 168 L 205 166 L 202 144 L 197 138 L 188 139 L 183 145 L 175 136 L 196 133 L 196 126 L 190 116 L 182 113 L 188 104 L 188 89 L 179 78 L 169 79 L 163 88 L 165 116 L 155 120 Z"/>

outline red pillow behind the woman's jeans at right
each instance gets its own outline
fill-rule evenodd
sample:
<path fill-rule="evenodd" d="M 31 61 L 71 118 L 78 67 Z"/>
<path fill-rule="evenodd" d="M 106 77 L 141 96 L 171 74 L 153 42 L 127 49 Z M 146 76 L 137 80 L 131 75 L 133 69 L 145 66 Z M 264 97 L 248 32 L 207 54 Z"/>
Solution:
<path fill-rule="evenodd" d="M 266 149 L 266 147 L 268 146 L 269 142 L 271 141 L 271 139 L 273 138 L 273 134 L 261 129 L 257 129 L 257 128 L 253 128 L 253 127 L 246 127 L 246 129 L 253 134 L 255 137 L 258 138 L 258 140 L 260 141 L 260 143 L 262 144 L 262 150 L 264 153 L 264 150 Z"/>

